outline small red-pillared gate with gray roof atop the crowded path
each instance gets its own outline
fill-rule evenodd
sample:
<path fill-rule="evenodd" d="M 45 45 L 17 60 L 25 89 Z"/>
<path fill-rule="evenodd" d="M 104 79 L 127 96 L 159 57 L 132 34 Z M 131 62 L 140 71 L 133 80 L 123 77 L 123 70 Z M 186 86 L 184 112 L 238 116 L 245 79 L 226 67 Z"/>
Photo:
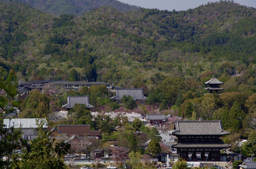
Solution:
<path fill-rule="evenodd" d="M 146 114 L 146 120 L 149 126 L 165 126 L 165 114 Z"/>

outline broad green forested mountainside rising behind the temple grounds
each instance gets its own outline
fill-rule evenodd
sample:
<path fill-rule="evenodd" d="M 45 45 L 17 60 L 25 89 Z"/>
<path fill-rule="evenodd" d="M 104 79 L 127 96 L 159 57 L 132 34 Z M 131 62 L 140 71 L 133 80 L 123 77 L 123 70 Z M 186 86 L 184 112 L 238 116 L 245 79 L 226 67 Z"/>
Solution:
<path fill-rule="evenodd" d="M 177 75 L 200 81 L 213 66 L 218 76 L 254 76 L 255 9 L 232 2 L 172 12 L 101 7 L 56 18 L 1 2 L 0 12 L 2 67 L 27 80 L 65 80 L 71 68 L 83 80 L 123 86 Z"/>

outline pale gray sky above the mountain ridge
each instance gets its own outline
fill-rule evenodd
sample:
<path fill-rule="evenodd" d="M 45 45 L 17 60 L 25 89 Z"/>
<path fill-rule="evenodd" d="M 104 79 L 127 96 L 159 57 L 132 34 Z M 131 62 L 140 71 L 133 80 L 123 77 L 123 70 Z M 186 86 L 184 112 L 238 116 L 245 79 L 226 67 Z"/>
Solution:
<path fill-rule="evenodd" d="M 205 5 L 208 2 L 217 2 L 211 0 L 118 0 L 130 5 L 137 5 L 144 8 L 157 8 L 160 10 L 176 11 L 187 10 L 189 8 L 196 8 L 200 5 Z M 235 3 L 256 8 L 256 0 L 234 0 Z"/>

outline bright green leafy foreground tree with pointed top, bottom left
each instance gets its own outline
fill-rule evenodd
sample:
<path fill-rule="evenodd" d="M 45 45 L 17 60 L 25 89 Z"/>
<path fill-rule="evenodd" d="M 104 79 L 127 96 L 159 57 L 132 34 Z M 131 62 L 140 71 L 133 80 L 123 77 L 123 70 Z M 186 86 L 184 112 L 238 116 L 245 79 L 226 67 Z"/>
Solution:
<path fill-rule="evenodd" d="M 29 141 L 29 151 L 24 149 L 23 154 L 13 155 L 11 168 L 68 168 L 63 157 L 67 154 L 70 144 L 63 141 L 53 147 L 53 141 L 49 139 L 51 132 L 43 131 L 43 123 L 38 123 L 38 136 Z"/>

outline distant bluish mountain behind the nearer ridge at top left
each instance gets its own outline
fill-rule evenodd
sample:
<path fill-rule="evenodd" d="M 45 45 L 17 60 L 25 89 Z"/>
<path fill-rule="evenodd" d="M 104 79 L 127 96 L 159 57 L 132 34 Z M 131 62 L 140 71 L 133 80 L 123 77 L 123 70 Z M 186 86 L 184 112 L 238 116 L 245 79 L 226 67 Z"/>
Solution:
<path fill-rule="evenodd" d="M 138 10 L 139 7 L 135 5 L 124 4 L 117 0 L 15 0 L 20 3 L 28 4 L 32 7 L 38 8 L 44 12 L 54 15 L 82 15 L 94 8 L 101 6 L 113 6 L 114 8 L 125 12 L 129 10 Z"/>

